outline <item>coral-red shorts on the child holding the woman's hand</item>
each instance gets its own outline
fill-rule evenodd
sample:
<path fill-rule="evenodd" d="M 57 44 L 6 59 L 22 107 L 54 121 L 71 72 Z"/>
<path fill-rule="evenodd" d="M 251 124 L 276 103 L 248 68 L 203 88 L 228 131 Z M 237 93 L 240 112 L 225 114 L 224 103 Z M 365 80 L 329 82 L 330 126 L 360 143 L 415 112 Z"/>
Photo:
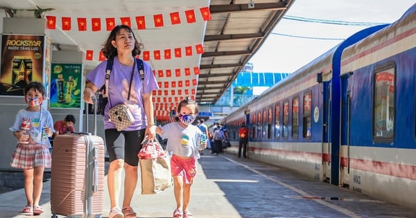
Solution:
<path fill-rule="evenodd" d="M 182 176 L 184 184 L 192 184 L 196 176 L 196 158 L 183 159 L 172 155 L 171 172 L 172 176 Z"/>

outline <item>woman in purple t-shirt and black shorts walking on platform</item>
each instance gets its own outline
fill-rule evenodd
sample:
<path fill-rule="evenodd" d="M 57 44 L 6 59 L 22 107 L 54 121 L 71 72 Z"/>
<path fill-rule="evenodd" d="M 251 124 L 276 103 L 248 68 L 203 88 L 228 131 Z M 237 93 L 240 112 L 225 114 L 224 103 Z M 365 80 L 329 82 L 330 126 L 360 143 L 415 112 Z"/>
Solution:
<path fill-rule="evenodd" d="M 129 26 L 115 26 L 101 50 L 108 60 L 113 60 L 112 71 L 108 81 L 108 103 L 105 107 L 105 145 L 110 156 L 107 174 L 108 194 L 110 195 L 109 218 L 135 218 L 136 212 L 130 206 L 135 193 L 139 165 L 140 142 L 145 136 L 156 137 L 152 91 L 158 89 L 155 75 L 150 65 L 143 62 L 144 80 L 142 81 L 137 66 L 136 55 L 141 53 L 141 44 Z M 98 64 L 87 75 L 84 100 L 93 104 L 94 93 L 105 84 L 107 61 Z M 110 107 L 125 105 L 134 122 L 130 127 L 118 131 L 110 120 Z M 121 174 L 124 168 L 123 206 L 119 207 Z"/>

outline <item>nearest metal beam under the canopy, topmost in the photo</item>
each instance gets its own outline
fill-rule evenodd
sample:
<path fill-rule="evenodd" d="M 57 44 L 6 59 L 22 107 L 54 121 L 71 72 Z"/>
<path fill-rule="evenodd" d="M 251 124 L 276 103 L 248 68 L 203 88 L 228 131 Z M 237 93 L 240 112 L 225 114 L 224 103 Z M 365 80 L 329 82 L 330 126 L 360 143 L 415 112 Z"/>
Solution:
<path fill-rule="evenodd" d="M 248 10 L 285 10 L 286 3 L 255 3 L 254 8 L 248 8 L 248 3 L 243 4 L 229 4 L 229 5 L 210 5 L 209 11 L 211 14 L 222 12 L 237 12 Z"/>

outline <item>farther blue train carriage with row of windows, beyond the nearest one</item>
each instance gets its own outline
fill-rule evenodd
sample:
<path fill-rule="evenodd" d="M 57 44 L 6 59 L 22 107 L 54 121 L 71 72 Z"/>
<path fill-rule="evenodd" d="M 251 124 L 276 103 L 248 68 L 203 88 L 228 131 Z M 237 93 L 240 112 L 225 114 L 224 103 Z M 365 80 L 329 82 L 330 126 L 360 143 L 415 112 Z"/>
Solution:
<path fill-rule="evenodd" d="M 232 147 L 250 129 L 248 156 L 339 185 L 340 55 L 386 25 L 361 30 L 225 118 Z"/>

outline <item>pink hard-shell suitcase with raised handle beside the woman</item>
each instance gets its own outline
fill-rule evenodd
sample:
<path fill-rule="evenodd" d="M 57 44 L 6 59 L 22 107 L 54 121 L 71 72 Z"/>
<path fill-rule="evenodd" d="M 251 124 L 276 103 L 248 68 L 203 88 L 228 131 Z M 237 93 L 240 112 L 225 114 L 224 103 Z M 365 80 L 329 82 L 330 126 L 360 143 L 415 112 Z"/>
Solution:
<path fill-rule="evenodd" d="M 88 120 L 88 113 L 86 116 Z M 101 217 L 103 213 L 105 149 L 103 138 L 96 136 L 95 111 L 94 122 L 94 135 L 63 134 L 53 139 L 51 168 L 53 218 L 58 217 L 57 215 Z"/>

